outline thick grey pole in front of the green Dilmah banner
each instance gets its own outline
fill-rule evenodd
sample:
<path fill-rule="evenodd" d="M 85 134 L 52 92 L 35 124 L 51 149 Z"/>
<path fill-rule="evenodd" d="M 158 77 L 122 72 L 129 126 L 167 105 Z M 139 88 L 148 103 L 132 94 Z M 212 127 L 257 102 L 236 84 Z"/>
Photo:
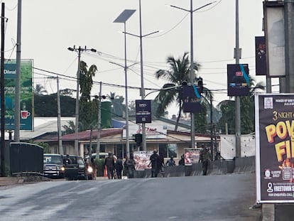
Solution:
<path fill-rule="evenodd" d="M 21 0 L 18 0 L 16 39 L 16 111 L 14 113 L 14 141 L 20 141 L 21 128 Z"/>

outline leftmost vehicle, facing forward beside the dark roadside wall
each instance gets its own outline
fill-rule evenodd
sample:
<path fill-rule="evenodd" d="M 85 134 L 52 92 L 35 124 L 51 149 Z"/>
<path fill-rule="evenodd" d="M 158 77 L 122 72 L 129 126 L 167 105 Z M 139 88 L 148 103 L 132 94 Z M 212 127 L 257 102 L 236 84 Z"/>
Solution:
<path fill-rule="evenodd" d="M 48 178 L 64 178 L 65 166 L 62 155 L 56 153 L 43 153 L 43 173 Z"/>

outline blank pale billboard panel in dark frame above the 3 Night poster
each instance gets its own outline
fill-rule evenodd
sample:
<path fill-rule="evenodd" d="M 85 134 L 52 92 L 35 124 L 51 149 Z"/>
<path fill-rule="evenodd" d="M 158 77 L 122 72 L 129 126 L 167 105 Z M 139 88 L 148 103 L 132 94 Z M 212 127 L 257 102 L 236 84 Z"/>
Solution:
<path fill-rule="evenodd" d="M 269 77 L 285 76 L 285 25 L 283 2 L 263 1 L 266 56 Z"/>

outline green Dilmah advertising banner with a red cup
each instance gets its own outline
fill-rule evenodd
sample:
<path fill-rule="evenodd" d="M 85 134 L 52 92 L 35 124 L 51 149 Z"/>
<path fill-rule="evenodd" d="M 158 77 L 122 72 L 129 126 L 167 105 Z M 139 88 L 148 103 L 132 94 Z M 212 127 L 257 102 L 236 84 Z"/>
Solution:
<path fill-rule="evenodd" d="M 33 130 L 33 60 L 21 60 L 20 129 Z M 16 60 L 4 64 L 5 129 L 14 130 Z"/>

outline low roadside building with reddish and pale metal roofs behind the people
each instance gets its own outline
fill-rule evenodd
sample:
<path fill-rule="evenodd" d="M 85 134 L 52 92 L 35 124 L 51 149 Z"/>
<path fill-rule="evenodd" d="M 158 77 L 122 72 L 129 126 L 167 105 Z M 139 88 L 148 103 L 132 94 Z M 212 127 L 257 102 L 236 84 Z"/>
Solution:
<path fill-rule="evenodd" d="M 67 120 L 62 120 L 64 123 Z M 42 119 L 38 119 L 38 122 Z M 58 135 L 57 135 L 57 119 L 53 126 L 54 120 L 48 122 L 48 119 L 43 120 L 43 124 L 38 124 L 34 131 L 21 132 L 21 139 L 31 139 L 35 142 L 44 142 L 50 145 L 51 153 L 58 153 Z M 126 156 L 126 129 L 124 122 L 114 120 L 113 125 L 118 128 L 97 129 L 80 131 L 78 134 L 66 134 L 62 136 L 62 154 L 75 154 L 85 156 L 97 151 L 99 146 L 100 152 L 114 153 L 116 156 Z M 62 124 L 63 125 L 63 124 Z M 54 130 L 55 127 L 55 130 Z M 175 124 L 173 122 L 163 122 L 161 120 L 153 120 L 151 124 L 146 124 L 146 150 L 152 151 L 157 149 L 163 153 L 164 158 L 173 156 L 175 161 L 180 159 L 185 148 L 191 146 L 190 130 L 182 126 L 178 127 L 178 131 L 174 131 Z M 48 129 L 48 131 L 47 131 Z M 47 131 L 47 132 L 45 132 Z M 55 132 L 55 133 L 54 133 Z M 139 151 L 139 144 L 135 140 L 135 134 L 141 133 L 141 126 L 134 122 L 129 123 L 129 144 L 130 151 Z M 26 135 L 26 136 L 23 136 Z M 33 137 L 35 136 L 35 137 Z M 97 139 L 97 137 L 99 139 Z M 78 149 L 75 150 L 75 140 L 78 140 Z M 212 142 L 213 141 L 213 142 Z M 219 137 L 211 137 L 209 134 L 195 134 L 195 146 L 205 144 L 205 146 L 218 146 Z"/>

